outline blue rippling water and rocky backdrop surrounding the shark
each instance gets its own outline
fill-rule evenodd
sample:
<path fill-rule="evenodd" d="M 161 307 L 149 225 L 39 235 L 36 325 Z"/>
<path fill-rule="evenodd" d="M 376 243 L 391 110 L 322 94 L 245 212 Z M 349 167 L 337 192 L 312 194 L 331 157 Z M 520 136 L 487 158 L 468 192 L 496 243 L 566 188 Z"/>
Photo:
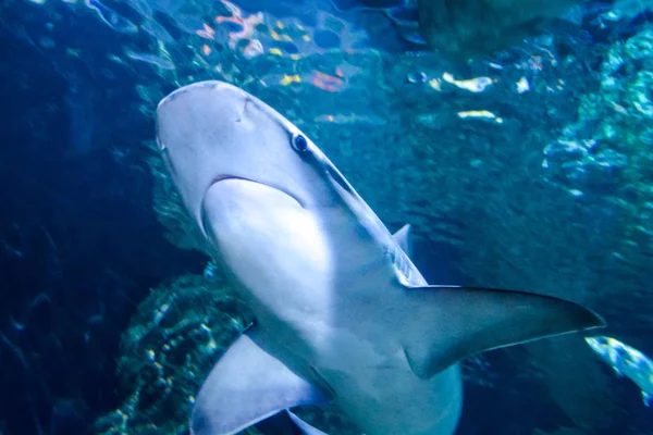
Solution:
<path fill-rule="evenodd" d="M 583 303 L 652 355 L 653 3 L 581 3 L 460 60 L 423 47 L 410 2 L 2 1 L 0 434 L 187 433 L 250 321 L 153 145 L 158 101 L 202 79 L 266 101 L 391 231 L 409 222 L 430 283 Z M 476 356 L 457 433 L 653 434 L 640 369 L 648 386 L 582 334 Z"/>

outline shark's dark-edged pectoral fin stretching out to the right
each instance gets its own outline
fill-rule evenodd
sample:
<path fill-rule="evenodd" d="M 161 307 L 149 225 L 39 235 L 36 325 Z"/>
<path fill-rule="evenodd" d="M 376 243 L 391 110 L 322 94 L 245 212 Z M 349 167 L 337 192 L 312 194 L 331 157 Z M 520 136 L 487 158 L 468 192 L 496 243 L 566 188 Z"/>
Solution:
<path fill-rule="evenodd" d="M 410 313 L 404 351 L 422 378 L 484 350 L 605 325 L 587 308 L 550 296 L 457 286 L 406 291 L 419 308 Z"/>

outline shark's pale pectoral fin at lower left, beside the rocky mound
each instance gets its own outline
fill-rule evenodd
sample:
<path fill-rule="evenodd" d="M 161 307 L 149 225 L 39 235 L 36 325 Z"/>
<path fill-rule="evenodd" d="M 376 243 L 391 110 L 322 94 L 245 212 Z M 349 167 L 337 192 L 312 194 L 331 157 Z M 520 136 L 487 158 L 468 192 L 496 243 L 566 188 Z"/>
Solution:
<path fill-rule="evenodd" d="M 218 360 L 197 395 L 194 435 L 235 434 L 284 409 L 328 398 L 243 334 Z"/>

